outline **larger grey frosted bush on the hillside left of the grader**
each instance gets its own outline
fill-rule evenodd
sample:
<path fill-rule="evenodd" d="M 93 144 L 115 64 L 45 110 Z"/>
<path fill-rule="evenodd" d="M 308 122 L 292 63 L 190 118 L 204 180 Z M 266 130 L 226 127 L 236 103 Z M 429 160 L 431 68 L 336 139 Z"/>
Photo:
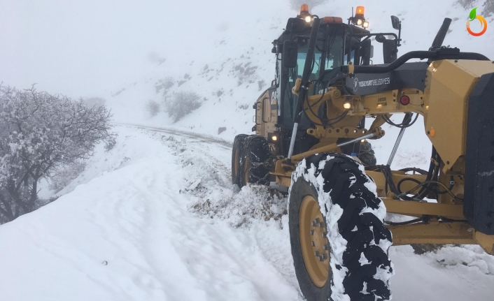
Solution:
<path fill-rule="evenodd" d="M 178 122 L 202 105 L 200 99 L 201 96 L 194 92 L 178 92 L 174 96 L 165 98 L 164 107 L 174 122 Z"/>

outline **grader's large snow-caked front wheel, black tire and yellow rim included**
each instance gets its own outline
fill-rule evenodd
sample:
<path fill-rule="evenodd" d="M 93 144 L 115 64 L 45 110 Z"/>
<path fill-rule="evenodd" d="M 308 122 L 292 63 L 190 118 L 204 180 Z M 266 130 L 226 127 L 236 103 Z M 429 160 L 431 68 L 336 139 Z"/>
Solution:
<path fill-rule="evenodd" d="M 390 300 L 386 207 L 360 163 L 343 154 L 304 159 L 292 173 L 288 202 L 295 274 L 306 300 Z"/>

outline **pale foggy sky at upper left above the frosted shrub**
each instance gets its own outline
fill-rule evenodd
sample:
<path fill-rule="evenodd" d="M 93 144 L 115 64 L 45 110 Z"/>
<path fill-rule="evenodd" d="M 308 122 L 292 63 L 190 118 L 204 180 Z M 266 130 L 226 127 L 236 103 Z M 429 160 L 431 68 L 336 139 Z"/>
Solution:
<path fill-rule="evenodd" d="M 36 82 L 38 89 L 73 97 L 135 80 L 146 73 L 151 52 L 169 59 L 177 48 L 197 49 L 221 22 L 211 12 L 227 9 L 193 0 L 181 0 L 178 7 L 170 0 L 0 3 L 3 85 L 25 88 Z"/>

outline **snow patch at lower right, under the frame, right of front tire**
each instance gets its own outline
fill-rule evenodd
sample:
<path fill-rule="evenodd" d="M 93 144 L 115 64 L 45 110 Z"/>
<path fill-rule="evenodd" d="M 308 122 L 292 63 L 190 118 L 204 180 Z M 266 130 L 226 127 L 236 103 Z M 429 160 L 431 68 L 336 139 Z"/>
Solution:
<path fill-rule="evenodd" d="M 473 247 L 473 248 L 472 248 Z M 396 274 L 391 279 L 394 300 L 492 300 L 493 274 L 485 274 L 477 267 L 463 265 L 474 253 L 463 251 L 477 246 L 446 247 L 438 254 L 413 254 L 411 247 L 392 247 L 390 257 L 395 263 Z M 439 263 L 444 260 L 448 263 Z M 484 254 L 486 255 L 486 254 Z M 488 256 L 488 255 L 486 255 Z M 491 265 L 493 256 L 482 260 Z"/>

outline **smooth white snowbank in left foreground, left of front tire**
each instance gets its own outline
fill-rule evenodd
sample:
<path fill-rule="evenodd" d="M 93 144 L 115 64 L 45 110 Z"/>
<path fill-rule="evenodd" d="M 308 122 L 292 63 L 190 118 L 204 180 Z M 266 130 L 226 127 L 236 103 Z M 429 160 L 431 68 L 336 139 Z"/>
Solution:
<path fill-rule="evenodd" d="M 281 252 L 290 265 L 283 224 L 240 230 L 196 216 L 181 153 L 147 131 L 118 133 L 99 177 L 1 226 L 3 300 L 297 300 L 292 277 L 269 262 L 275 249 L 272 260 Z M 120 167 L 122 157 L 132 163 Z"/>

